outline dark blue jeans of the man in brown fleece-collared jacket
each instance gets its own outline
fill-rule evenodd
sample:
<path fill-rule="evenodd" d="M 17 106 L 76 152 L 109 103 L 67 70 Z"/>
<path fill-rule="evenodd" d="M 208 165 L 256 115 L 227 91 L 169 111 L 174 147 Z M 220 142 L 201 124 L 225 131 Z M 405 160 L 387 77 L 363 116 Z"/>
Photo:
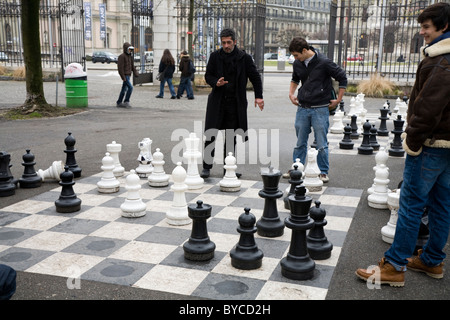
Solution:
<path fill-rule="evenodd" d="M 394 242 L 385 253 L 397 269 L 414 253 L 422 214 L 428 208 L 430 236 L 420 260 L 436 266 L 445 258 L 443 248 L 450 228 L 450 149 L 423 147 L 416 157 L 407 155 Z"/>

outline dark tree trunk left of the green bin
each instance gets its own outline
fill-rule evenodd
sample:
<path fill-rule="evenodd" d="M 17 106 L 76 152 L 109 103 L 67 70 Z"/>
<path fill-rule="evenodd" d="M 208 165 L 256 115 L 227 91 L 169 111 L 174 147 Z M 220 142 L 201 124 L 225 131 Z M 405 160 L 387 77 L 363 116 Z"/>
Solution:
<path fill-rule="evenodd" d="M 44 96 L 42 81 L 41 44 L 39 37 L 40 1 L 22 0 L 22 40 L 25 62 L 27 97 L 22 113 L 31 113 L 51 107 Z"/>

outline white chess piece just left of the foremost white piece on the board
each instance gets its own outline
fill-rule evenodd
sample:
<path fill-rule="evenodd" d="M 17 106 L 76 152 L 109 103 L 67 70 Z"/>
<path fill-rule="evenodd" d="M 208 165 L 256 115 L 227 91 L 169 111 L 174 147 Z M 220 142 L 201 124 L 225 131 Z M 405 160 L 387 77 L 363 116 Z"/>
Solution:
<path fill-rule="evenodd" d="M 127 189 L 127 198 L 120 205 L 122 216 L 127 218 L 137 218 L 145 215 L 147 205 L 142 201 L 139 194 L 141 182 L 135 170 L 130 170 L 126 178 L 125 189 Z"/>

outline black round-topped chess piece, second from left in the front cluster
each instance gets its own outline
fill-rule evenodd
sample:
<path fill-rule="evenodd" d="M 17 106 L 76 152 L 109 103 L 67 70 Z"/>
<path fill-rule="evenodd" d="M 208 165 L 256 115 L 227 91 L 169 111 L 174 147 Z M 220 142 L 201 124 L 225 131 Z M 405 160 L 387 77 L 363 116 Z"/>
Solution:
<path fill-rule="evenodd" d="M 256 218 L 250 213 L 250 208 L 245 208 L 238 221 L 237 231 L 241 235 L 239 242 L 230 251 L 231 265 L 241 270 L 258 269 L 262 265 L 264 254 L 255 242 Z"/>

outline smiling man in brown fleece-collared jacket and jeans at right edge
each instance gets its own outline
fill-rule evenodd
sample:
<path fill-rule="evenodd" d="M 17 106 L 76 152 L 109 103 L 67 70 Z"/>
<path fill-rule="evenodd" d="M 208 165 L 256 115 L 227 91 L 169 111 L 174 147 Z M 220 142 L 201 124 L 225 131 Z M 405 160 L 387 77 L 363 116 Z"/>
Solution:
<path fill-rule="evenodd" d="M 406 268 L 443 277 L 450 228 L 450 4 L 433 4 L 417 20 L 425 47 L 402 134 L 407 155 L 394 241 L 378 267 L 356 270 L 367 282 L 397 287 L 404 285 Z M 429 239 L 412 256 L 425 207 Z"/>

